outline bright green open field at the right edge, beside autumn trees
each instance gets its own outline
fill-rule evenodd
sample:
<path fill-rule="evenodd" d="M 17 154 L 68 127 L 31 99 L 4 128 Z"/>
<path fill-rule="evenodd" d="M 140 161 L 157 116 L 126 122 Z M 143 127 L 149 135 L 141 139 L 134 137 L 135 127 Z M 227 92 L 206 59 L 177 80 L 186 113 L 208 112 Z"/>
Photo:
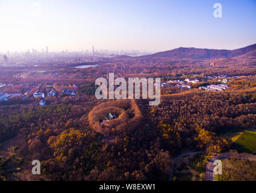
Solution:
<path fill-rule="evenodd" d="M 256 131 L 245 131 L 234 141 L 231 149 L 237 150 L 239 153 L 256 153 Z"/>

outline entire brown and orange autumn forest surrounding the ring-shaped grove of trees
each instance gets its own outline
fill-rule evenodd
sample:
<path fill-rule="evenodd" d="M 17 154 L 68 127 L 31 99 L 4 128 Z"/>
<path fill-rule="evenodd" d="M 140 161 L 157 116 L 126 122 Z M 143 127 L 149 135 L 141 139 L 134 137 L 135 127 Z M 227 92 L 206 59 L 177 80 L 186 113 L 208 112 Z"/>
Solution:
<path fill-rule="evenodd" d="M 218 59 L 211 66 L 211 61 L 111 60 L 113 63 L 99 64 L 100 68 L 57 66 L 59 69 L 49 68 L 41 77 L 33 67 L 31 72 L 7 68 L 0 72 L 7 77 L 0 77 L 2 82 L 14 84 L 1 92 L 31 91 L 26 100 L 0 103 L 0 180 L 168 180 L 174 157 L 189 151 L 203 151 L 203 157 L 228 151 L 230 141 L 220 133 L 256 128 L 253 61 L 237 59 L 234 65 Z M 107 78 L 108 72 L 124 78 L 160 77 L 161 82 L 201 81 L 191 84 L 191 89 L 161 87 L 161 103 L 151 107 L 142 99 L 97 100 L 94 80 Z M 218 84 L 223 74 L 229 74 L 227 90 L 199 89 Z M 46 105 L 39 106 L 41 99 L 34 99 L 33 92 L 38 87 L 46 89 L 48 82 L 59 93 L 73 89 L 76 83 L 77 95 L 47 96 Z M 108 113 L 117 118 L 102 124 Z M 41 161 L 41 176 L 30 172 L 34 159 Z M 254 164 L 229 161 L 239 166 Z M 202 171 L 205 162 L 199 163 Z M 227 171 L 224 179 L 232 180 L 232 172 L 236 171 Z"/>

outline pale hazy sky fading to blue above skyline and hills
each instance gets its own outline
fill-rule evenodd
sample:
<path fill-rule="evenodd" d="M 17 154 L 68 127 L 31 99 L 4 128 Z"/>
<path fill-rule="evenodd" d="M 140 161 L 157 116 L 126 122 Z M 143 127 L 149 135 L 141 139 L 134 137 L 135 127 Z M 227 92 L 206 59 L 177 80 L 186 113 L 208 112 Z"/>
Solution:
<path fill-rule="evenodd" d="M 0 26 L 4 52 L 235 49 L 256 43 L 256 0 L 0 0 Z"/>

